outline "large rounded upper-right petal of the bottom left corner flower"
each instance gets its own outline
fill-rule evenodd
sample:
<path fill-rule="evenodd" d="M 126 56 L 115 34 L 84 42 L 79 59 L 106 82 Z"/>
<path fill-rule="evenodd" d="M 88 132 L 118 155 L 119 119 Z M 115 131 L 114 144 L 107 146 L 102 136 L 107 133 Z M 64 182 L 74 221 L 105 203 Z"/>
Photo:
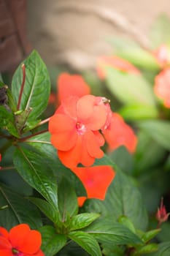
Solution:
<path fill-rule="evenodd" d="M 13 248 L 28 254 L 36 253 L 42 244 L 41 234 L 36 230 L 30 230 L 26 224 L 12 227 L 9 231 L 9 240 Z"/>

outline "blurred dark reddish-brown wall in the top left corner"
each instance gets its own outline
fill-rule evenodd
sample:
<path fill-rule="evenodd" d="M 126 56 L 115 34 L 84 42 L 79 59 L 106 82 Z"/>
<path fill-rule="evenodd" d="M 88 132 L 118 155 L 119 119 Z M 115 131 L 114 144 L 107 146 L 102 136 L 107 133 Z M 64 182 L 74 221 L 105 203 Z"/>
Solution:
<path fill-rule="evenodd" d="M 30 50 L 26 0 L 0 0 L 0 72 L 14 69 Z"/>

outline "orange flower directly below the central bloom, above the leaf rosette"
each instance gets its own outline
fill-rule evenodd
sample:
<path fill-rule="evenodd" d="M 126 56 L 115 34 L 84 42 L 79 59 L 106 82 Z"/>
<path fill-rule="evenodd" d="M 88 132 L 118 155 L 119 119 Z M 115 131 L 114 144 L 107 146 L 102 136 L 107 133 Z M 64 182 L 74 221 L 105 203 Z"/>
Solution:
<path fill-rule="evenodd" d="M 80 178 L 84 185 L 87 197 L 78 197 L 79 206 L 87 198 L 104 200 L 107 189 L 115 177 L 111 166 L 76 167 L 72 171 Z"/>

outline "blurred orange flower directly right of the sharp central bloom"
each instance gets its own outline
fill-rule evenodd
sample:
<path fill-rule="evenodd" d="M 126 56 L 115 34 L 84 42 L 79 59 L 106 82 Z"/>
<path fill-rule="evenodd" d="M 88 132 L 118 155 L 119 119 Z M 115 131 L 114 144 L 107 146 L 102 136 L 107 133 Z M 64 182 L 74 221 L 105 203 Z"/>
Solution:
<path fill-rule="evenodd" d="M 133 129 L 125 124 L 125 121 L 118 113 L 112 113 L 112 120 L 107 129 L 102 130 L 107 140 L 109 151 L 119 146 L 125 146 L 129 152 L 136 149 L 137 138 Z"/>

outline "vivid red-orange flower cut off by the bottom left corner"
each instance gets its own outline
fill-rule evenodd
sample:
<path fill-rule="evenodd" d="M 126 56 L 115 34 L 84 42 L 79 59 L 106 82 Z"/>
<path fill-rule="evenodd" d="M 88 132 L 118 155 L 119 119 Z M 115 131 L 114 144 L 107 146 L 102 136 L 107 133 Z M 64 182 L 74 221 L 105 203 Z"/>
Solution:
<path fill-rule="evenodd" d="M 44 256 L 40 249 L 41 234 L 31 230 L 27 224 L 20 224 L 8 232 L 0 227 L 0 255 L 3 256 Z"/>

